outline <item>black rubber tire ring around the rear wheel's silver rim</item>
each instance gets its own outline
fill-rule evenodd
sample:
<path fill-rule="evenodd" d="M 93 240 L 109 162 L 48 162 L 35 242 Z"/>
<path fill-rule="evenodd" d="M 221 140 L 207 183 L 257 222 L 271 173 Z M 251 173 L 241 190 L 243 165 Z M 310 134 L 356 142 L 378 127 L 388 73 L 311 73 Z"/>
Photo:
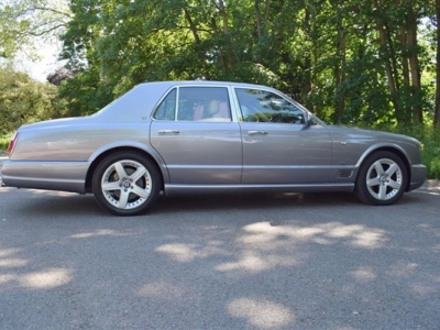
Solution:
<path fill-rule="evenodd" d="M 119 208 L 116 208 L 109 201 L 106 199 L 103 196 L 102 189 L 101 189 L 101 182 L 102 182 L 102 176 L 106 173 L 106 170 L 111 166 L 112 164 L 123 161 L 123 160 L 129 160 L 129 161 L 134 161 L 140 164 L 142 164 L 146 170 L 150 173 L 151 180 L 152 180 L 152 190 L 151 194 L 147 198 L 147 200 L 139 206 L 138 208 L 133 209 L 128 209 L 128 210 L 122 210 Z M 143 156 L 140 153 L 136 152 L 117 152 L 113 154 L 108 155 L 105 157 L 96 167 L 92 176 L 92 193 L 95 196 L 95 199 L 97 200 L 98 205 L 106 211 L 114 215 L 114 216 L 121 216 L 121 217 L 130 217 L 130 216 L 140 216 L 145 213 L 150 207 L 154 204 L 156 200 L 158 194 L 160 194 L 160 174 L 156 168 L 156 166 L 150 161 L 147 157 Z"/>

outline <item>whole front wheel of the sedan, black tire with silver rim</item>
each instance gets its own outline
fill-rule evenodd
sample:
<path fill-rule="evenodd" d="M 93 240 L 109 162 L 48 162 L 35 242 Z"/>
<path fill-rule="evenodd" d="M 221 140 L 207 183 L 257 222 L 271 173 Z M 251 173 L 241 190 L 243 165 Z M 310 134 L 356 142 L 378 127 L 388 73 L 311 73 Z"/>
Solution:
<path fill-rule="evenodd" d="M 392 152 L 371 154 L 359 172 L 354 194 L 366 204 L 387 206 L 404 195 L 408 173 L 402 158 Z"/>

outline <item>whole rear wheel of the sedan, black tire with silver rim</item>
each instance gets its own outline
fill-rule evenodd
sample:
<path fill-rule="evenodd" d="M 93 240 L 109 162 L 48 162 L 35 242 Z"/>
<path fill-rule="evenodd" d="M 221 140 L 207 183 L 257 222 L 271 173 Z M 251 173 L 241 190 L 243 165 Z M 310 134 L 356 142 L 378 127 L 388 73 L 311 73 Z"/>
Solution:
<path fill-rule="evenodd" d="M 145 213 L 161 190 L 155 164 L 136 152 L 118 152 L 103 158 L 91 185 L 98 205 L 116 216 Z"/>

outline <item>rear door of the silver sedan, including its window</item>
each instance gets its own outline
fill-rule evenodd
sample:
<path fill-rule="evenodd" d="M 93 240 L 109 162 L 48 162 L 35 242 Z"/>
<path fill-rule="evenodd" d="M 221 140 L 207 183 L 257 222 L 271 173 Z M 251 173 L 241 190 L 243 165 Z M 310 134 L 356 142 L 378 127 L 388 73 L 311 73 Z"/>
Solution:
<path fill-rule="evenodd" d="M 151 123 L 151 143 L 175 185 L 239 184 L 240 125 L 232 120 L 230 89 L 185 86 L 170 90 Z"/>

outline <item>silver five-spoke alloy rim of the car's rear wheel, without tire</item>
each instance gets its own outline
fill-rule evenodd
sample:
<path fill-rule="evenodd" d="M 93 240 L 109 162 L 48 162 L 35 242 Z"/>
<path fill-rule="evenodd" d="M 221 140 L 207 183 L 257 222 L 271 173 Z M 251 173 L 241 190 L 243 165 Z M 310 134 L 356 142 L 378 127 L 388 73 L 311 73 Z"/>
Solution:
<path fill-rule="evenodd" d="M 147 201 L 152 178 L 144 165 L 131 160 L 111 164 L 102 175 L 101 191 L 118 209 L 134 209 Z"/>

